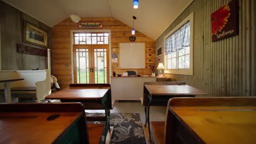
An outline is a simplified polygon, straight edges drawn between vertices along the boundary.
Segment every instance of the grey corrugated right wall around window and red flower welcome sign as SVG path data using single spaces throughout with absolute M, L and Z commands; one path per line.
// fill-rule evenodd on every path
M 156 47 L 164 46 L 165 35 L 194 12 L 194 75 L 166 76 L 185 81 L 210 96 L 256 95 L 255 0 L 239 0 L 239 35 L 214 43 L 211 40 L 211 13 L 229 2 L 195 0 L 156 40 Z

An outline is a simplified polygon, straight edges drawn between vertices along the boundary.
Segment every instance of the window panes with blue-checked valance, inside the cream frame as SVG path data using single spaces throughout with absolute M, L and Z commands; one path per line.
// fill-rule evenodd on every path
M 166 38 L 167 69 L 189 69 L 190 21 Z

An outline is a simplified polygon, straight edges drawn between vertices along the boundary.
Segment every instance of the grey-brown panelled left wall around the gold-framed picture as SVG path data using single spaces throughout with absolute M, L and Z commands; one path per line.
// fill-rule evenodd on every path
M 51 49 L 51 28 L 44 23 L 33 19 L 20 10 L 0 1 L 1 23 L 1 67 L 2 70 L 32 70 L 47 69 L 47 57 L 27 55 L 16 52 L 16 44 L 25 44 L 22 41 L 24 21 L 48 32 L 48 47 Z M 27 46 L 33 46 L 25 44 Z M 40 48 L 38 46 L 33 46 Z M 44 48 L 41 48 L 44 49 Z M 44 49 L 45 50 L 45 49 Z

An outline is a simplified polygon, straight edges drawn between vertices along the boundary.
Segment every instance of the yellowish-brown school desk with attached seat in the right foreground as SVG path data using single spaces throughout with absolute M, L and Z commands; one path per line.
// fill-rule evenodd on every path
M 155 143 L 254 143 L 255 108 L 256 97 L 172 98 L 168 101 L 166 121 L 150 122 L 153 140 Z

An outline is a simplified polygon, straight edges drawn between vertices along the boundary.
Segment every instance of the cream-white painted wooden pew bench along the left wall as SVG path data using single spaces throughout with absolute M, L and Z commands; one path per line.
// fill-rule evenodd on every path
M 22 78 L 24 80 L 11 83 L 11 95 L 17 97 L 36 98 L 39 103 L 51 92 L 50 73 L 45 70 L 0 70 L 1 79 Z M 3 89 L 3 84 L 0 84 Z M 2 90 L 3 91 L 3 90 Z M 2 99 L 2 100 L 1 100 Z M 0 93 L 0 100 L 4 102 L 4 93 Z

